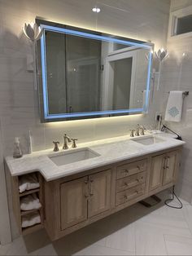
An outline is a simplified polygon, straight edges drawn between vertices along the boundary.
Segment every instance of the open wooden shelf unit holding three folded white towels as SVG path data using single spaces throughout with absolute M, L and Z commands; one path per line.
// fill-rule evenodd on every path
M 11 177 L 13 210 L 18 226 L 20 227 L 20 233 L 23 235 L 42 228 L 44 223 L 43 178 L 38 172 L 33 173 L 33 178 L 35 177 L 37 179 L 39 185 L 34 186 L 33 184 L 32 189 L 28 189 L 30 188 L 30 184 L 29 186 L 23 186 L 21 180 L 24 180 L 26 183 L 29 175 L 30 174 Z M 22 189 L 20 186 L 23 186 Z M 26 225 L 28 225 L 28 227 Z

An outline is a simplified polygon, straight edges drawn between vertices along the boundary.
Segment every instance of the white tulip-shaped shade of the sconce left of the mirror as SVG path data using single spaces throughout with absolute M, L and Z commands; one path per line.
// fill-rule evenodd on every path
M 42 29 L 36 23 L 25 23 L 23 31 L 24 35 L 33 42 L 41 38 Z

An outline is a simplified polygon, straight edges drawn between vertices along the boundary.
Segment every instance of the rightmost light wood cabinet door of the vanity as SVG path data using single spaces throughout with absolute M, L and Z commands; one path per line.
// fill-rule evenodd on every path
M 164 185 L 173 183 L 176 179 L 177 151 L 169 152 L 165 157 Z

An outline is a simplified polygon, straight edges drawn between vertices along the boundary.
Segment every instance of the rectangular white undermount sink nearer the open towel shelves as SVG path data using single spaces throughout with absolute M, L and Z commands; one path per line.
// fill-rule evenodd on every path
M 72 152 L 64 152 L 57 156 L 51 156 L 50 160 L 55 163 L 57 166 L 68 165 L 76 161 L 83 161 L 93 157 L 99 157 L 100 155 L 97 152 L 89 148 L 76 149 Z

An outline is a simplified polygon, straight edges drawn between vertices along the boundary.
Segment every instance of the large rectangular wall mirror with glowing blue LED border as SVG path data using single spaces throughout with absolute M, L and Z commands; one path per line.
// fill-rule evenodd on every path
M 41 120 L 147 111 L 153 44 L 37 20 Z

